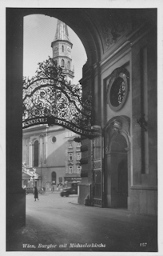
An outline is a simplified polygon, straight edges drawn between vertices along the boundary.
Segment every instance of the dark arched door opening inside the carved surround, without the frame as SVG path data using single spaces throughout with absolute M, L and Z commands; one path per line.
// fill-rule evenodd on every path
M 128 209 L 128 154 L 122 134 L 114 133 L 106 159 L 106 206 Z

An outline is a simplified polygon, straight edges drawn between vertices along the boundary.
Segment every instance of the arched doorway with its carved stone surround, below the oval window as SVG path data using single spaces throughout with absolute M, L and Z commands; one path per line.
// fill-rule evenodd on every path
M 105 129 L 105 206 L 129 209 L 129 118 L 116 117 Z

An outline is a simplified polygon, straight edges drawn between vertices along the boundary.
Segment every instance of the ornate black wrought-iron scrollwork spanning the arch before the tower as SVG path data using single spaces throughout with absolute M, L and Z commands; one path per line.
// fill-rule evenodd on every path
M 91 94 L 85 98 L 81 85 L 67 82 L 53 58 L 38 64 L 36 75 L 23 79 L 22 128 L 59 125 L 92 138 Z

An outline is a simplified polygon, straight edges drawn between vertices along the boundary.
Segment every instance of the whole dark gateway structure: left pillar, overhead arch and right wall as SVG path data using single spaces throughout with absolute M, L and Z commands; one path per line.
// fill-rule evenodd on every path
M 93 139 L 81 136 L 78 202 L 84 204 L 89 196 L 92 206 L 125 208 L 131 213 L 157 216 L 157 10 L 9 9 L 7 35 L 14 38 L 12 44 L 6 41 L 7 63 L 10 63 L 7 66 L 9 225 L 14 219 L 19 220 L 18 216 L 22 216 L 23 225 L 26 218 L 26 198 L 21 187 L 23 30 L 20 24 L 24 15 L 36 13 L 66 22 L 78 34 L 88 57 L 80 82 L 83 94 L 93 96 L 92 126 L 101 135 Z M 14 60 L 18 63 L 16 67 Z

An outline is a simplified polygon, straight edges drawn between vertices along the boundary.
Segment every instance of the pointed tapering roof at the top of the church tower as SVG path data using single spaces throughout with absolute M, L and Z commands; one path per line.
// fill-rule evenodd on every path
M 55 40 L 66 40 L 70 42 L 67 25 L 58 19 L 57 30 L 55 33 Z

